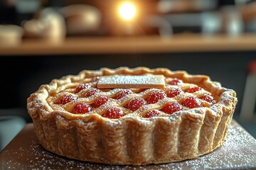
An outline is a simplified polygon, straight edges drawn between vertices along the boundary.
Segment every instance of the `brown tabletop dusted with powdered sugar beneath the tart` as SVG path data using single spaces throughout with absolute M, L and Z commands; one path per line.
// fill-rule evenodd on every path
M 256 140 L 233 120 L 224 146 L 198 159 L 148 166 L 91 164 L 51 154 L 29 123 L 0 153 L 0 169 L 256 169 Z

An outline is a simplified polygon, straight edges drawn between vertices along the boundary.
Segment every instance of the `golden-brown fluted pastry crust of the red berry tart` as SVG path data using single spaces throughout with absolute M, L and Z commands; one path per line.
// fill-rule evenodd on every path
M 87 114 L 70 113 L 77 101 L 71 101 L 63 107 L 54 103 L 58 100 L 58 94 L 73 91 L 72 86 L 78 86 L 86 79 L 116 74 L 161 74 L 166 79 L 181 79 L 185 83 L 206 89 L 204 92 L 216 96 L 218 102 L 208 107 L 206 103 L 205 107 L 185 109 L 171 115 L 160 111 L 159 117 L 143 118 L 146 111 L 160 110 L 164 103 L 183 100 L 186 98 L 184 93 L 176 98 L 164 98 L 134 112 L 121 107 L 125 115 L 117 119 L 102 116 L 107 106 L 124 106 L 131 98 L 145 98 L 152 89 L 131 94 L 118 102 L 113 100 Z M 114 96 L 117 91 L 118 89 L 102 93 Z M 78 95 L 82 93 L 83 91 Z M 93 103 L 102 93 L 79 100 Z M 198 96 L 198 93 L 190 95 Z M 165 68 L 120 67 L 85 70 L 76 76 L 54 79 L 31 94 L 27 100 L 27 108 L 39 142 L 50 152 L 71 159 L 103 164 L 161 164 L 193 159 L 223 145 L 237 103 L 235 96 L 235 91 L 223 88 L 204 75 L 171 72 Z

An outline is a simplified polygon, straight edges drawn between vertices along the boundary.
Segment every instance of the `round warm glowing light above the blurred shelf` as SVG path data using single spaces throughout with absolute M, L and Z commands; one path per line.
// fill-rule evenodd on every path
M 119 14 L 124 20 L 132 20 L 136 14 L 136 7 L 130 2 L 125 2 L 119 7 Z

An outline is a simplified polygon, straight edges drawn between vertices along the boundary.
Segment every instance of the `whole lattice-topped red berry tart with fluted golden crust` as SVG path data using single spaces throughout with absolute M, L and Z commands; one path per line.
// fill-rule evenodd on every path
M 53 79 L 27 100 L 41 145 L 60 156 L 120 165 L 194 159 L 223 145 L 235 91 L 165 68 L 102 68 Z

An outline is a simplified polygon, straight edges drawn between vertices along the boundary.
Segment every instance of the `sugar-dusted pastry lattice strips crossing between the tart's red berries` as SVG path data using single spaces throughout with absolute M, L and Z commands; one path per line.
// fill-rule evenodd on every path
M 173 79 L 167 79 L 166 81 L 171 81 L 171 80 L 173 80 Z M 82 83 L 86 83 L 86 81 L 83 81 Z M 90 86 L 91 86 L 90 88 L 82 89 L 77 94 L 74 94 L 75 93 L 74 87 L 77 87 L 77 86 L 79 86 L 78 83 L 69 84 L 69 86 L 66 86 L 66 85 L 60 86 L 57 89 L 57 91 L 59 91 L 59 93 L 56 96 L 52 96 L 52 97 L 48 98 L 48 102 L 50 103 L 50 106 L 52 106 L 55 109 L 60 109 L 60 106 L 58 105 L 59 98 L 62 96 L 65 96 L 65 95 L 72 95 L 72 96 L 74 96 L 75 100 L 71 101 L 69 103 L 66 103 L 65 105 L 62 106 L 63 108 L 60 109 L 61 111 L 71 112 L 75 103 L 93 104 L 93 103 L 95 103 L 97 98 L 99 98 L 100 96 L 107 96 L 111 100 L 108 101 L 104 107 L 100 107 L 100 108 L 97 108 L 96 110 L 90 111 L 88 114 L 97 113 L 99 115 L 102 115 L 108 107 L 116 106 L 124 112 L 124 115 L 127 115 L 129 113 L 132 113 L 132 111 L 129 111 L 129 109 L 127 109 L 127 108 L 124 108 L 124 106 L 126 106 L 129 103 L 129 101 L 132 100 L 132 98 L 146 99 L 149 96 L 149 94 L 151 94 L 151 92 L 159 90 L 159 89 L 146 89 L 145 91 L 142 91 L 140 93 L 128 94 L 127 96 L 124 96 L 124 98 L 116 100 L 116 99 L 114 99 L 114 97 L 117 96 L 117 94 L 120 91 L 122 91 L 123 89 L 105 89 L 105 91 L 98 92 L 88 98 L 85 98 L 84 96 L 85 96 L 85 94 L 87 94 L 88 91 L 95 89 L 93 87 L 93 86 L 95 86 L 95 84 L 90 84 Z M 164 92 L 166 94 L 169 91 L 171 91 L 171 89 L 174 89 L 174 88 L 180 88 L 183 91 L 181 92 L 181 94 L 174 96 L 174 98 L 171 100 L 166 99 L 166 100 L 164 100 L 164 102 L 160 100 L 159 104 L 156 104 L 155 107 L 148 106 L 148 105 L 143 106 L 143 108 L 139 109 L 139 111 L 136 111 L 135 114 L 139 115 L 139 116 L 143 116 L 146 113 L 146 111 L 158 110 L 157 112 L 159 113 L 159 115 L 167 115 L 163 111 L 159 111 L 159 110 L 161 110 L 161 108 L 163 108 L 166 105 L 166 103 L 174 103 L 174 102 L 182 103 L 182 101 L 184 101 L 184 99 L 188 98 L 189 96 L 198 98 L 199 96 L 203 96 L 204 94 L 210 94 L 210 92 L 205 91 L 204 89 L 201 89 L 200 91 L 195 91 L 194 93 L 185 92 L 186 89 L 189 89 L 191 87 L 197 87 L 197 86 L 195 84 L 188 84 L 188 83 L 177 84 L 177 85 L 168 85 L 168 86 L 166 86 L 166 89 L 164 89 Z M 138 89 L 135 91 L 138 91 Z M 203 103 L 203 106 L 211 105 L 211 103 L 204 101 L 204 100 L 201 100 L 201 102 Z M 57 103 L 57 106 L 55 103 Z M 184 108 L 183 110 L 188 110 L 188 108 Z

